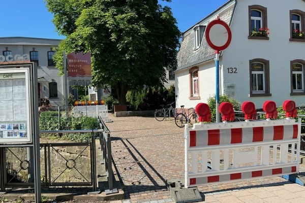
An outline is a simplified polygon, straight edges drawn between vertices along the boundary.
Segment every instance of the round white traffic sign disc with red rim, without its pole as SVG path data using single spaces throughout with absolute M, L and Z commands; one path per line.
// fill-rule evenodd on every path
M 226 22 L 213 20 L 206 26 L 205 38 L 210 48 L 216 51 L 225 50 L 231 43 L 231 29 Z

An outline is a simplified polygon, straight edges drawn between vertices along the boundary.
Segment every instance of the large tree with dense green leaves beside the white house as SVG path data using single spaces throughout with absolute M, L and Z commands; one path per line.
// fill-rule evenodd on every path
M 163 0 L 171 2 L 171 0 Z M 53 59 L 64 74 L 63 52 L 91 52 L 92 83 L 128 90 L 155 86 L 176 64 L 179 31 L 171 9 L 158 0 L 45 0 L 60 35 Z

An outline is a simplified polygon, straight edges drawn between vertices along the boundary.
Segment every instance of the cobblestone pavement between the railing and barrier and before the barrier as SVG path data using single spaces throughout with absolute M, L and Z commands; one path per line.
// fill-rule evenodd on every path
M 116 202 L 174 202 L 166 180 L 184 181 L 184 128 L 174 120 L 153 117 L 114 117 L 112 156 L 122 181 L 124 200 Z M 300 164 L 300 172 L 305 171 Z M 198 187 L 204 202 L 305 202 L 305 187 L 281 177 Z

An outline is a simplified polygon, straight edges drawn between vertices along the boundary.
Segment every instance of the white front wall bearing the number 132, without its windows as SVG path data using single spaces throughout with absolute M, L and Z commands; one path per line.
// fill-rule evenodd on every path
M 290 96 L 290 61 L 304 59 L 305 55 L 302 51 L 304 43 L 289 41 L 289 10 L 305 11 L 305 4 L 303 1 L 283 1 L 275 6 L 274 3 L 264 0 L 238 1 L 231 24 L 232 41 L 221 57 L 222 93 L 229 93 L 241 102 L 253 101 L 256 108 L 262 108 L 265 100 L 273 100 L 277 106 L 282 106 L 286 99 L 294 100 L 297 106 L 304 104 L 304 96 Z M 249 5 L 267 8 L 269 40 L 248 39 Z M 269 60 L 271 96 L 249 96 L 249 60 L 254 58 Z M 228 74 L 228 67 L 236 67 L 237 74 Z

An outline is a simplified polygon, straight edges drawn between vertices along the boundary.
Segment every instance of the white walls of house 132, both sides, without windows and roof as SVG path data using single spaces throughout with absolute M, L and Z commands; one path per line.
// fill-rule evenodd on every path
M 282 106 L 286 99 L 305 104 L 305 96 L 290 96 L 290 61 L 305 60 L 303 42 L 290 42 L 289 10 L 305 11 L 304 1 L 239 0 L 232 19 L 232 41 L 220 57 L 220 94 L 226 94 L 240 101 L 252 101 L 261 109 L 264 101 L 273 100 Z M 275 6 L 276 4 L 276 6 Z M 248 39 L 249 5 L 267 8 L 267 26 L 269 40 Z M 215 14 L 217 15 L 217 14 Z M 203 16 L 204 17 L 204 16 Z M 192 24 L 194 22 L 190 22 Z M 204 39 L 205 40 L 205 39 Z M 269 81 L 271 96 L 250 97 L 249 61 L 254 58 L 269 60 Z M 199 66 L 200 99 L 190 100 L 189 69 Z M 175 72 L 176 106 L 195 107 L 198 103 L 207 103 L 210 96 L 216 94 L 215 61 L 194 64 Z M 237 73 L 228 73 L 228 67 L 236 67 Z M 304 76 L 305 77 L 305 76 Z

